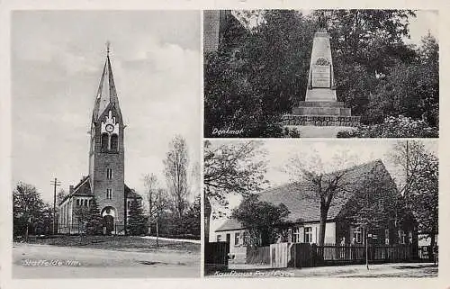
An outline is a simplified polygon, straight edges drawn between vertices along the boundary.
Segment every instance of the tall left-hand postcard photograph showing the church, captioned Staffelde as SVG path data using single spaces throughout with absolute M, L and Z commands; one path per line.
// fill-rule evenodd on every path
M 12 12 L 14 278 L 200 277 L 200 17 Z

